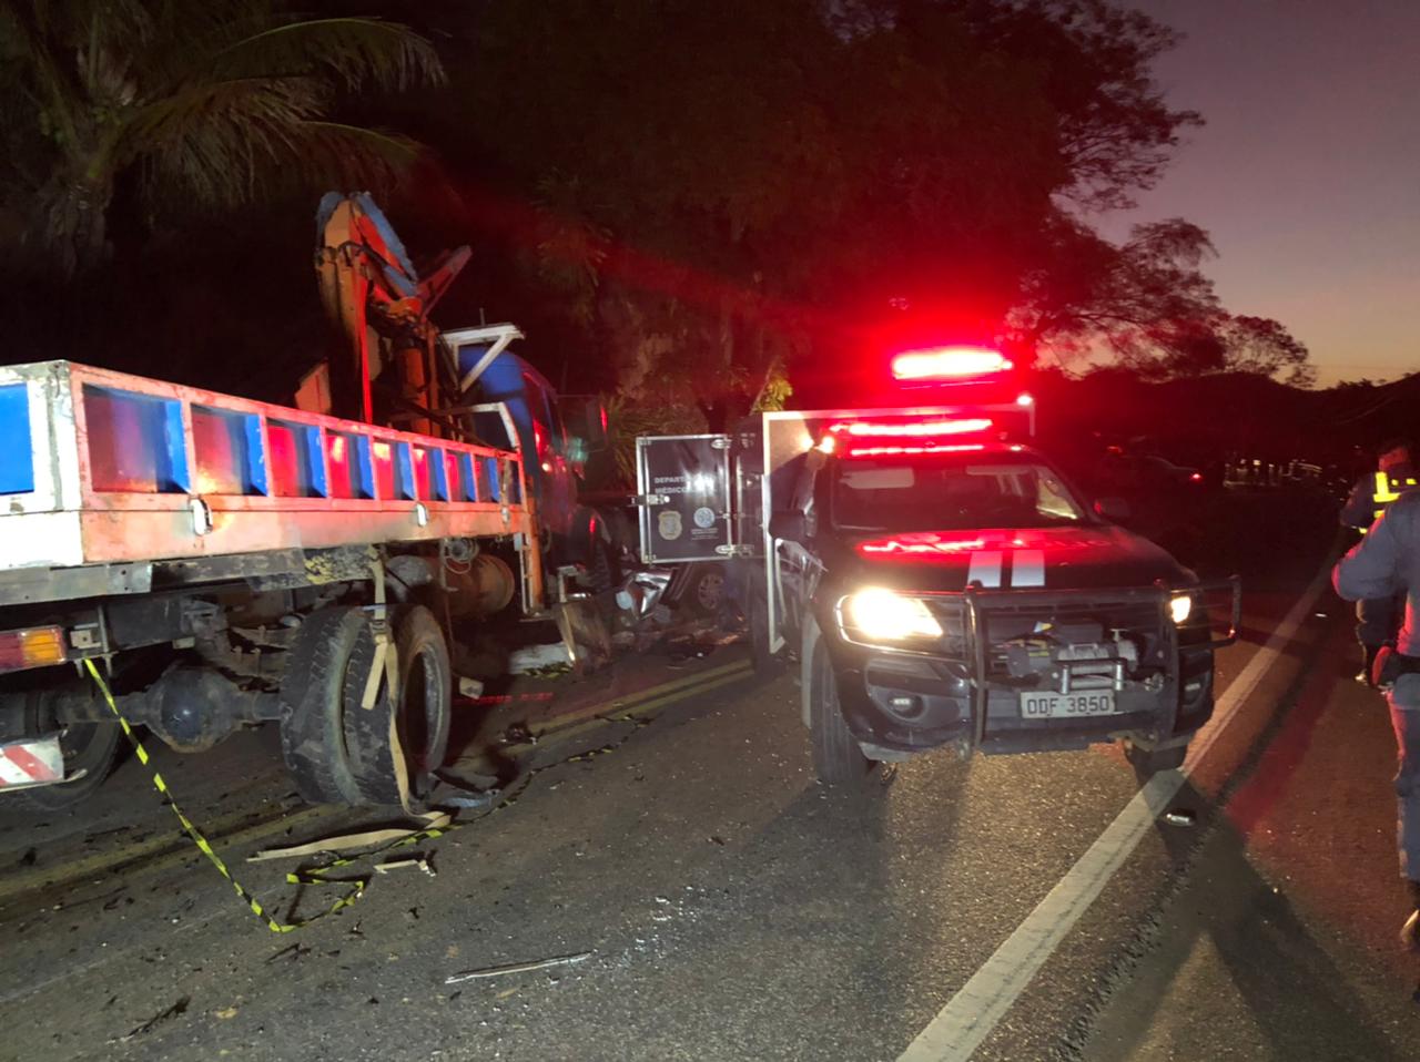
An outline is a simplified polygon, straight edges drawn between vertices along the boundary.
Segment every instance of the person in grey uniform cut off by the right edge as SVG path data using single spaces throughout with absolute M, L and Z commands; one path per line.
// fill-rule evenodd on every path
M 1332 571 L 1332 585 L 1346 601 L 1393 601 L 1404 608 L 1394 650 L 1380 656 L 1380 684 L 1396 731 L 1396 842 L 1400 876 L 1410 887 L 1414 910 L 1400 931 L 1410 950 L 1420 950 L 1420 491 L 1387 503 L 1384 513 Z

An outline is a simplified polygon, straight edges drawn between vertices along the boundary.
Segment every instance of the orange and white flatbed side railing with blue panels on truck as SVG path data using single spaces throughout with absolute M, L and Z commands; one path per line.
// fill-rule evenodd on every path
M 515 451 L 0 366 L 0 572 L 498 535 L 534 535 Z

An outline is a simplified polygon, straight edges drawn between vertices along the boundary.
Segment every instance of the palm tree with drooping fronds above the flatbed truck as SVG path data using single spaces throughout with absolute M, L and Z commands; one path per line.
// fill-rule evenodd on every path
M 119 179 L 151 216 L 388 179 L 416 145 L 334 105 L 442 77 L 405 26 L 280 0 L 0 0 L 0 182 L 23 239 L 72 277 L 106 251 Z

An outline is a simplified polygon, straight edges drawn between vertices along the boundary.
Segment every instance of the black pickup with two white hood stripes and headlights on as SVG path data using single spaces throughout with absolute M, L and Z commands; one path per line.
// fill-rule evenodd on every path
M 940 745 L 1118 740 L 1140 772 L 1183 764 L 1213 713 L 1237 579 L 1200 585 L 1031 447 L 836 442 L 799 460 L 768 547 L 771 612 L 802 669 L 824 781 Z M 1231 625 L 1216 637 L 1224 593 Z

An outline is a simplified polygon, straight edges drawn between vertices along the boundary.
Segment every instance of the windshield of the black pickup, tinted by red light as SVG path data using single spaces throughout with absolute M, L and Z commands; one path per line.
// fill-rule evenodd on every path
M 832 524 L 843 531 L 964 531 L 1089 522 L 1049 466 L 1015 454 L 834 461 Z

